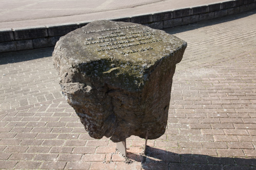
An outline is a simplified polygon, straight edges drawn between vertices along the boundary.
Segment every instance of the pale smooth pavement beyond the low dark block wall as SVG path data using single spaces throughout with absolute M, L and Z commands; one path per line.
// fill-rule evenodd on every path
M 181 9 L 223 0 L 0 0 L 0 29 L 41 26 Z

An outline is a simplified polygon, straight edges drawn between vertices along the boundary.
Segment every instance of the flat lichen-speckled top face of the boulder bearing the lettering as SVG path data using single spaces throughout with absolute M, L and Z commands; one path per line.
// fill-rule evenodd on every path
M 57 47 L 69 64 L 101 59 L 143 63 L 149 67 L 172 55 L 181 45 L 179 38 L 164 31 L 135 23 L 100 20 L 61 37 Z

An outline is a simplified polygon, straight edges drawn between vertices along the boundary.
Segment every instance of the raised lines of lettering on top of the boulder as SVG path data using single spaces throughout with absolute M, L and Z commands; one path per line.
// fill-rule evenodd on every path
M 148 30 L 141 30 L 141 31 L 129 31 L 129 32 L 121 32 L 121 29 L 129 29 L 129 28 L 136 28 L 139 26 L 125 26 L 125 27 L 118 27 L 118 28 L 109 28 L 109 29 L 101 29 L 101 30 L 91 30 L 84 32 L 88 33 L 95 33 L 95 32 L 106 32 L 111 31 L 109 33 L 103 33 L 101 36 L 98 37 L 90 37 L 86 38 L 84 42 L 85 45 L 92 45 L 97 44 L 99 48 L 96 48 L 97 52 L 102 51 L 109 51 L 115 49 L 122 49 L 120 51 L 121 54 L 131 54 L 137 52 L 143 52 L 152 50 L 153 47 L 151 46 L 141 46 L 143 44 L 150 44 L 161 41 L 154 37 L 156 34 L 155 32 L 150 32 Z M 105 35 L 104 35 L 105 34 Z M 131 46 L 138 46 L 136 49 L 130 49 Z

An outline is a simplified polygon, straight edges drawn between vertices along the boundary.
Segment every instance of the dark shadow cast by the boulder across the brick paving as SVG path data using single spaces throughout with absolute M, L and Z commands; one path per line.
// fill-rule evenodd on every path
M 147 146 L 146 156 L 128 153 L 131 160 L 142 162 L 143 169 L 253 169 L 256 159 L 177 154 Z

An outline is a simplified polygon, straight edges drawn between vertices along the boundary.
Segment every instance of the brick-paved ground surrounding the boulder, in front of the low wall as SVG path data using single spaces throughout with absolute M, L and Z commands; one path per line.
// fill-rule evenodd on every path
M 256 11 L 165 30 L 188 42 L 165 134 L 128 158 L 84 131 L 61 96 L 52 48 L 0 54 L 0 168 L 256 169 Z M 129 162 L 130 163 L 125 163 Z

